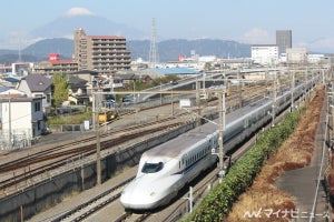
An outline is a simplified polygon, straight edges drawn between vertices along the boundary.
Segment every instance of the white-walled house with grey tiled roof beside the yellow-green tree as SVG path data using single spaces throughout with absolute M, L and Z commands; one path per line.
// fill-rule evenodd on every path
M 28 74 L 23 77 L 17 89 L 26 92 L 28 98 L 42 98 L 42 108 L 51 107 L 51 85 L 50 78 L 42 74 Z

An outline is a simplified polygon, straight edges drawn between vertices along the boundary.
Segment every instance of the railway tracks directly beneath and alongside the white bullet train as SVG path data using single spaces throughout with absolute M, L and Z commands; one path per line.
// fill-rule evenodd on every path
M 240 149 L 232 154 L 232 160 L 236 162 L 240 157 L 243 157 L 255 143 L 256 137 L 247 141 Z M 212 188 L 219 182 L 217 178 L 218 169 L 213 168 L 207 170 L 204 174 L 198 176 L 193 183 L 190 183 L 193 189 L 193 205 L 196 205 L 205 198 L 208 192 L 210 192 Z M 131 176 L 134 179 L 135 176 Z M 130 179 L 130 180 L 131 180 Z M 125 181 L 121 183 L 126 185 L 130 180 Z M 159 209 L 158 211 L 153 212 L 121 212 L 118 215 L 110 215 L 112 221 L 115 222 L 141 222 L 141 221 L 177 221 L 181 219 L 185 214 L 189 212 L 189 201 L 188 201 L 188 192 L 185 188 L 180 195 L 177 196 L 171 204 Z M 118 188 L 112 188 L 110 190 L 118 190 Z M 104 196 L 106 195 L 106 196 Z M 75 209 L 68 211 L 67 213 L 58 216 L 57 219 L 52 220 L 53 222 L 59 221 L 91 221 L 89 218 L 90 215 L 98 213 L 104 206 L 108 204 L 120 204 L 119 198 L 120 192 L 117 195 L 112 195 L 112 200 L 107 198 L 109 195 L 109 191 L 99 194 L 97 198 L 76 206 Z M 101 199 L 100 201 L 96 199 Z M 104 201 L 106 200 L 106 201 Z M 96 203 L 91 203 L 96 202 Z M 117 202 L 117 203 L 116 203 Z M 81 206 L 85 208 L 81 208 Z M 95 206 L 97 205 L 97 206 Z M 114 205 L 115 206 L 115 205 Z M 81 213 L 77 213 L 76 210 L 80 209 Z M 66 216 L 67 218 L 66 218 Z M 94 220 L 94 219 L 92 219 Z

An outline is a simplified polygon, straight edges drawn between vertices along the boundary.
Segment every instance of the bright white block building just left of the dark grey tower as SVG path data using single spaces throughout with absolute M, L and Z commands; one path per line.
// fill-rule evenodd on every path
M 252 47 L 254 63 L 271 65 L 278 63 L 278 47 L 276 44 L 254 44 Z

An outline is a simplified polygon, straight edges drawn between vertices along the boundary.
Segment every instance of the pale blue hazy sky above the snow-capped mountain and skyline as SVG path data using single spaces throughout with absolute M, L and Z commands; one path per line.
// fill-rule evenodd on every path
M 164 39 L 265 44 L 275 43 L 276 30 L 289 29 L 293 47 L 334 52 L 333 0 L 8 0 L 1 4 L 0 49 L 23 48 L 7 41 L 24 39 L 24 33 L 69 11 L 94 13 L 147 33 L 155 18 L 157 36 Z

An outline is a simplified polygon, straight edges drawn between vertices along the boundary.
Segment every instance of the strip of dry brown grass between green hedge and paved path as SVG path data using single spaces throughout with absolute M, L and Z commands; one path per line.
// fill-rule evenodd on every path
M 323 101 L 324 89 L 321 88 L 311 99 L 295 132 L 279 148 L 278 152 L 269 158 L 268 163 L 262 169 L 248 191 L 240 195 L 239 201 L 234 204 L 227 216 L 227 221 L 289 221 L 282 211 L 295 210 L 295 198 L 284 193 L 273 183 L 285 171 L 310 164 Z M 273 214 L 268 209 L 273 209 L 273 212 L 281 212 Z M 261 211 L 262 218 L 248 219 L 245 216 L 246 211 Z M 271 218 L 268 218 L 269 214 Z

